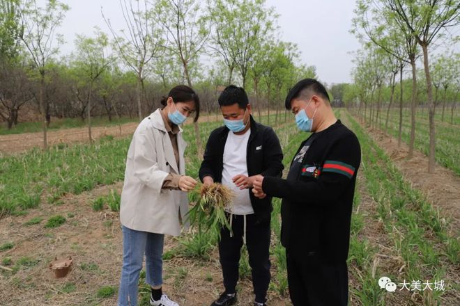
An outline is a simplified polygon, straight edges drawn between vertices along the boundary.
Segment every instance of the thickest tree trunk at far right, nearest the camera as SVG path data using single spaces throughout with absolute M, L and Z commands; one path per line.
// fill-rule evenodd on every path
M 423 65 L 425 69 L 425 77 L 427 78 L 427 96 L 429 107 L 429 156 L 428 156 L 428 172 L 434 173 L 435 154 L 436 154 L 436 131 L 434 127 L 434 102 L 433 102 L 433 89 L 431 88 L 431 75 L 429 73 L 428 64 L 428 47 L 422 46 L 423 51 Z

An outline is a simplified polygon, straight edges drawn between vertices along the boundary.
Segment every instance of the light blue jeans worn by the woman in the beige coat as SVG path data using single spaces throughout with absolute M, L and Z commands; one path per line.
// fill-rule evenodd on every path
M 163 234 L 139 232 L 122 226 L 123 267 L 121 268 L 118 306 L 137 306 L 137 287 L 146 255 L 146 283 L 158 287 L 163 283 Z

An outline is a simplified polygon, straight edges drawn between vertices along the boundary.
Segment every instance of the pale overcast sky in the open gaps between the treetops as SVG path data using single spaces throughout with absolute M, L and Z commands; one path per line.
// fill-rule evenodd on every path
M 75 49 L 76 34 L 91 36 L 94 26 L 109 33 L 102 19 L 101 7 L 115 28 L 124 26 L 116 0 L 64 2 L 68 3 L 70 10 L 58 30 L 66 40 L 61 47 L 63 54 L 70 54 Z M 348 33 L 354 0 L 267 0 L 266 5 L 273 6 L 279 14 L 280 39 L 296 43 L 302 51 L 302 63 L 316 66 L 320 79 L 327 83 L 351 82 L 351 52 L 360 48 L 358 40 Z

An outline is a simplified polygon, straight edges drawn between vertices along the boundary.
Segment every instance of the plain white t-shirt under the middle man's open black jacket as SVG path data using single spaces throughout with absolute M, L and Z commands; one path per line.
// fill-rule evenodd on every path
M 229 131 L 227 136 L 227 142 L 224 147 L 224 169 L 222 170 L 222 185 L 230 188 L 235 197 L 233 198 L 233 205 L 231 211 L 227 211 L 236 215 L 249 215 L 254 214 L 252 209 L 250 190 L 240 190 L 233 181 L 232 178 L 236 175 L 247 176 L 247 141 L 249 140 L 251 129 L 248 129 L 243 135 L 233 134 Z

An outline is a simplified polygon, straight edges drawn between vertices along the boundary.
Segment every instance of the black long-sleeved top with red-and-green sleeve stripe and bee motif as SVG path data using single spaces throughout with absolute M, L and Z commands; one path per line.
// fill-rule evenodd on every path
M 343 262 L 348 257 L 360 144 L 340 120 L 310 137 L 314 140 L 297 177 L 265 177 L 262 188 L 283 199 L 281 240 L 288 252 Z

